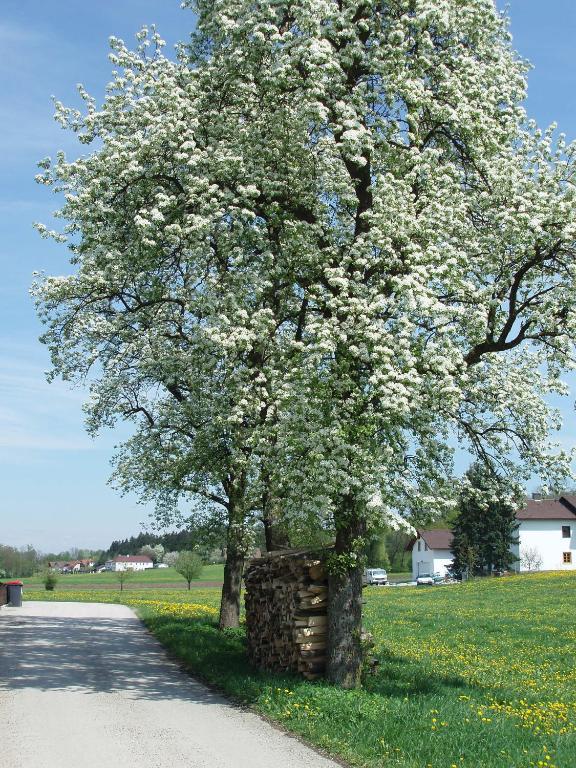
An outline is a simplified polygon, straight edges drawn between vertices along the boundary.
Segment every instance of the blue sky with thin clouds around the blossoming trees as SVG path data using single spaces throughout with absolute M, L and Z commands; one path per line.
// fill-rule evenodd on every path
M 503 4 L 502 4 L 503 5 Z M 515 47 L 534 65 L 528 110 L 576 138 L 576 4 L 512 0 Z M 56 201 L 34 183 L 36 162 L 77 152 L 52 120 L 51 96 L 74 104 L 76 83 L 96 97 L 109 79 L 108 38 L 127 42 L 143 24 L 171 46 L 193 16 L 178 0 L 2 0 L 0 10 L 0 542 L 43 551 L 107 547 L 140 529 L 147 510 L 106 485 L 118 433 L 93 441 L 83 430 L 83 393 L 47 384 L 28 288 L 32 272 L 68 271 L 65 248 L 41 240 Z M 565 410 L 571 441 L 573 410 Z

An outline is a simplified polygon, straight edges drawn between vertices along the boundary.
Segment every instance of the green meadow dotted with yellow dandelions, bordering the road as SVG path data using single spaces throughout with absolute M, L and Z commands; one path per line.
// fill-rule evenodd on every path
M 576 765 L 576 573 L 365 594 L 380 666 L 360 691 L 252 669 L 242 628 L 214 625 L 217 589 L 60 599 L 133 605 L 190 671 L 352 765 Z

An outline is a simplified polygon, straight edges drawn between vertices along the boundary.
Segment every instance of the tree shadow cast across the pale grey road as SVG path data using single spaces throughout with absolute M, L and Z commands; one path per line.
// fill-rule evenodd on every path
M 139 619 L 0 616 L 0 690 L 122 692 L 221 702 L 168 661 Z

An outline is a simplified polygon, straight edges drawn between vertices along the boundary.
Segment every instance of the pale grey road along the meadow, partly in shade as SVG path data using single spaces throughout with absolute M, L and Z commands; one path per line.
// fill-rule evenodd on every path
M 337 768 L 182 672 L 127 607 L 0 610 L 0 768 Z

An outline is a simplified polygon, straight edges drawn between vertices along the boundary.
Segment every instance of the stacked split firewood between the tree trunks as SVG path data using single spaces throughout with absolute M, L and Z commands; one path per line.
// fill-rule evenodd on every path
M 270 552 L 250 562 L 246 583 L 248 654 L 264 669 L 322 677 L 328 582 L 317 554 Z

